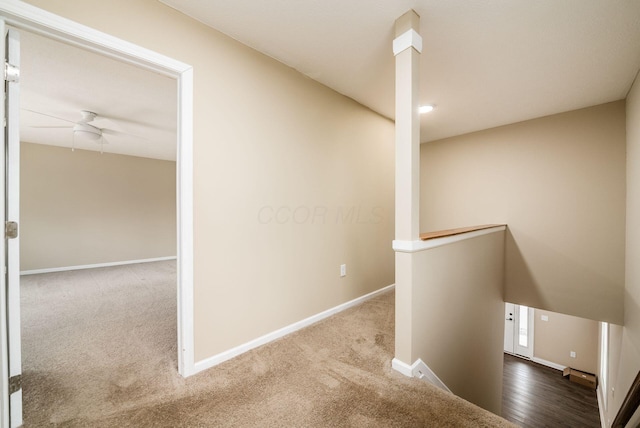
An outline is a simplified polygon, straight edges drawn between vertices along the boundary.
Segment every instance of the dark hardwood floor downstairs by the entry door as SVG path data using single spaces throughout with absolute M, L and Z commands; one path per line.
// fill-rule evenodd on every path
M 562 372 L 504 355 L 502 417 L 522 427 L 600 428 L 596 391 Z

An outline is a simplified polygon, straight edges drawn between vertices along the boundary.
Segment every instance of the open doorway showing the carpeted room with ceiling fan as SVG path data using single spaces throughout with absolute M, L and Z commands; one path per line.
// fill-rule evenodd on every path
M 23 415 L 43 425 L 99 414 L 133 373 L 177 376 L 176 84 L 26 31 L 20 48 Z

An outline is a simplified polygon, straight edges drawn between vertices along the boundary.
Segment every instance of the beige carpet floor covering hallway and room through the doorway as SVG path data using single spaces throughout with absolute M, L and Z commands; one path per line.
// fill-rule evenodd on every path
M 182 379 L 174 262 L 21 288 L 27 427 L 513 426 L 391 369 L 393 292 Z

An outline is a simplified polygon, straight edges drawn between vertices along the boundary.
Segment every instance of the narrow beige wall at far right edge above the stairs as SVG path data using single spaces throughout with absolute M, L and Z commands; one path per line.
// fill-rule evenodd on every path
M 613 421 L 640 370 L 640 80 L 627 97 L 627 241 L 624 327 L 611 326 L 607 418 Z M 628 426 L 640 425 L 640 410 Z

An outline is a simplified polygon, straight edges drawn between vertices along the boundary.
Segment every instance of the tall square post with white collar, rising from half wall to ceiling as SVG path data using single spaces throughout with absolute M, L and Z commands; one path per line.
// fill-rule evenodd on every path
M 415 11 L 396 20 L 396 206 L 395 239 L 405 243 L 420 236 L 419 74 L 422 38 Z M 410 245 L 410 244 L 409 244 Z M 413 253 L 396 251 L 396 344 L 394 367 L 412 364 Z M 407 374 L 407 373 L 405 373 Z

